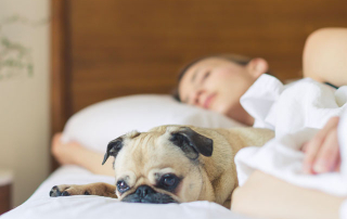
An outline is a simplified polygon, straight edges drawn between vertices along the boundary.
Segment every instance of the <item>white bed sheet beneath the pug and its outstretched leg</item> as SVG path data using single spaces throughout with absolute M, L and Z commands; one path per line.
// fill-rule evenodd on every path
M 49 192 L 57 184 L 114 183 L 113 177 L 93 175 L 77 166 L 63 166 L 55 170 L 28 198 L 15 209 L 0 216 L 1 219 L 247 219 L 210 202 L 183 204 L 133 204 L 95 195 L 50 197 Z

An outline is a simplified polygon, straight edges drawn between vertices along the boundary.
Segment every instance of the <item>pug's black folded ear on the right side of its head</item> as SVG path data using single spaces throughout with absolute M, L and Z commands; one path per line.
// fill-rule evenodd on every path
M 193 131 L 191 128 L 184 127 L 171 132 L 170 141 L 179 146 L 191 159 L 196 159 L 198 154 L 204 156 L 213 155 L 214 141 Z

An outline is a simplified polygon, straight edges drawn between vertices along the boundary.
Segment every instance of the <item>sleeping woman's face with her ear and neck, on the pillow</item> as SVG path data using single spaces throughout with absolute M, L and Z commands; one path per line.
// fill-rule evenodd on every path
M 179 83 L 179 95 L 183 103 L 253 125 L 254 120 L 241 106 L 240 98 L 265 72 L 267 63 L 262 59 L 252 60 L 246 66 L 242 66 L 226 59 L 208 57 L 185 72 Z

